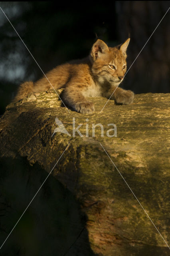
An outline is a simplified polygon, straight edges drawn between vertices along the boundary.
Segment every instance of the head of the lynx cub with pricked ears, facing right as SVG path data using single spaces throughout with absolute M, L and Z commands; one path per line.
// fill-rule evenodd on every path
M 95 80 L 100 84 L 118 86 L 127 71 L 126 50 L 129 44 L 128 38 L 123 44 L 108 47 L 105 42 L 98 39 L 91 49 L 92 72 Z

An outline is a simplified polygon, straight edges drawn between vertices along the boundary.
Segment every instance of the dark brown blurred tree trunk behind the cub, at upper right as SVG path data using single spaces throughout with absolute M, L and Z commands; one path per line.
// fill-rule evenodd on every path
M 168 10 L 168 1 L 117 1 L 120 42 L 130 36 L 128 67 Z M 134 92 L 169 92 L 170 13 L 166 14 L 127 74 Z M 148 89 L 149 88 L 149 89 Z

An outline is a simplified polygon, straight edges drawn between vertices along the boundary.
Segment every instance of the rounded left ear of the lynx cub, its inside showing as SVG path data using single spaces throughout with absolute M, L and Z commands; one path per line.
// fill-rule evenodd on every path
M 93 44 L 93 47 L 91 49 L 91 56 L 93 60 L 96 60 L 99 56 L 101 56 L 102 53 L 109 52 L 109 48 L 105 42 L 103 42 L 100 39 L 97 39 L 95 44 Z

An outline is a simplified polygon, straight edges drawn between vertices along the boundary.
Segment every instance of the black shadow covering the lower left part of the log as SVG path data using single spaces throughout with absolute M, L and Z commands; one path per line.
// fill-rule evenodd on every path
M 37 163 L 30 166 L 25 157 L 4 157 L 0 167 L 2 243 L 42 185 L 47 172 Z M 85 218 L 75 196 L 49 176 L 2 247 L 0 255 L 93 256 Z

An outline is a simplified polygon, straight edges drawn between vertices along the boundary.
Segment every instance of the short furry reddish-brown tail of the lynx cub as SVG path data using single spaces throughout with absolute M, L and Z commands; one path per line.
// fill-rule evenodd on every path
M 33 82 L 24 82 L 18 88 L 18 92 L 13 100 L 13 102 L 17 102 L 28 96 L 29 93 L 33 92 L 34 83 Z

